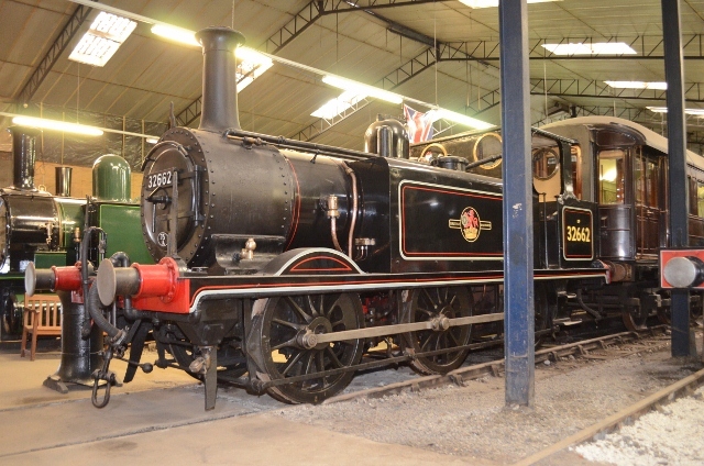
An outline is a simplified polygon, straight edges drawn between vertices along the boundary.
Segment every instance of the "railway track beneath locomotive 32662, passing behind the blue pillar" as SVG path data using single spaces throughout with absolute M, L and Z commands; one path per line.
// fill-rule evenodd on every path
M 546 360 L 557 362 L 560 358 L 573 356 L 588 356 L 594 350 L 605 350 L 610 344 L 626 344 L 641 340 L 646 336 L 664 334 L 667 325 L 652 326 L 644 331 L 620 332 L 604 335 L 580 342 L 547 347 L 536 351 L 536 364 L 543 364 Z M 497 344 L 501 344 L 497 342 Z M 437 388 L 446 385 L 464 385 L 466 380 L 479 379 L 485 376 L 501 376 L 504 373 L 504 359 L 498 358 L 486 363 L 464 366 L 452 370 L 446 375 L 414 377 L 408 380 L 356 390 L 331 397 L 322 404 L 339 403 L 343 401 L 359 400 L 364 398 L 382 398 L 391 395 L 398 395 L 407 390 L 418 391 L 427 388 Z

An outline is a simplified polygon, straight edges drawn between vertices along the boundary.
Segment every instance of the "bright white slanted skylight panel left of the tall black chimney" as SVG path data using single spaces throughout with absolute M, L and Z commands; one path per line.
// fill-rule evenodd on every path
M 100 12 L 80 38 L 68 59 L 92 66 L 105 66 L 136 27 L 127 18 Z

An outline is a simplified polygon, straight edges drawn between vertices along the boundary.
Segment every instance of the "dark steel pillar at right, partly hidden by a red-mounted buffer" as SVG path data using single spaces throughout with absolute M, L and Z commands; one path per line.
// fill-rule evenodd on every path
M 668 154 L 670 191 L 670 247 L 689 245 L 689 199 L 686 196 L 686 134 L 680 0 L 662 0 L 664 76 L 668 81 Z M 672 356 L 690 354 L 690 292 L 672 290 Z

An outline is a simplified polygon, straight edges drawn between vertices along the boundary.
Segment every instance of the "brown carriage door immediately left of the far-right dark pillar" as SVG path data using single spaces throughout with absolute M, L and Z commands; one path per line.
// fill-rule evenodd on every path
M 636 200 L 636 256 L 656 256 L 660 245 L 662 207 L 658 196 L 660 169 L 658 159 L 634 147 L 634 182 Z

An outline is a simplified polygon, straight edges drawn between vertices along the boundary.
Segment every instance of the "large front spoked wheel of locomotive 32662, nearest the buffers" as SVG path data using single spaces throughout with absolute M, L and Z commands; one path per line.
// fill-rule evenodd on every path
M 263 304 L 263 306 L 261 306 Z M 263 380 L 277 380 L 356 365 L 364 340 L 319 343 L 311 346 L 304 335 L 361 329 L 362 301 L 353 293 L 270 298 L 255 307 L 249 352 Z M 321 375 L 293 384 L 270 387 L 266 392 L 287 403 L 319 403 L 342 391 L 353 371 Z

